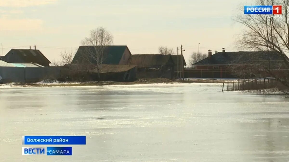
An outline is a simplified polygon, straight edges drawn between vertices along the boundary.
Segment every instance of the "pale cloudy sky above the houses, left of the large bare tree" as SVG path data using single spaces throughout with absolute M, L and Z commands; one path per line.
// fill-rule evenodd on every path
M 3 55 L 36 45 L 58 61 L 60 52 L 77 50 L 90 30 L 104 27 L 114 45 L 127 45 L 132 54 L 157 54 L 159 46 L 176 53 L 183 45 L 188 61 L 193 51 L 237 51 L 242 26 L 233 17 L 252 1 L 1 0 L 0 43 Z

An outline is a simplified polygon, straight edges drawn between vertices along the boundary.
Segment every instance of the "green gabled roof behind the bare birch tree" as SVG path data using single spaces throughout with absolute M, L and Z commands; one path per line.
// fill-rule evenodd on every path
M 106 46 L 104 52 L 105 59 L 103 61 L 103 64 L 117 65 L 122 59 L 125 49 L 128 49 L 127 46 Z M 86 51 L 95 51 L 95 48 L 93 46 L 79 46 L 72 60 L 72 63 L 77 63 L 77 61 L 81 61 L 81 55 L 85 54 Z M 91 58 L 90 62 L 94 63 L 95 61 Z

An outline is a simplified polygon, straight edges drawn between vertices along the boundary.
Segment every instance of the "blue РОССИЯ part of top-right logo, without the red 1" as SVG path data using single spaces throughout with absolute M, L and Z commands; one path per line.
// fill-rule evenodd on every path
M 273 6 L 244 6 L 244 14 L 273 14 Z

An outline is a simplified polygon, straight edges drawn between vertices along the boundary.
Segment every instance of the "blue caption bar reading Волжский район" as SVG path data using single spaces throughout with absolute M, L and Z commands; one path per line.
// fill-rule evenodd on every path
M 24 145 L 85 145 L 86 136 L 22 136 Z

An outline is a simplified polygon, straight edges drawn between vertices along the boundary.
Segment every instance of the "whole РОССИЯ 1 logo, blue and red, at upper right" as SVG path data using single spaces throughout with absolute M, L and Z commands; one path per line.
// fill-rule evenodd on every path
M 244 14 L 282 14 L 282 6 L 244 6 Z

